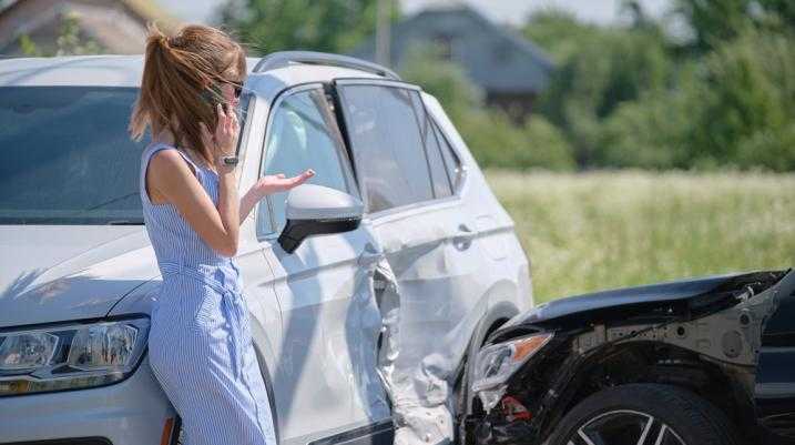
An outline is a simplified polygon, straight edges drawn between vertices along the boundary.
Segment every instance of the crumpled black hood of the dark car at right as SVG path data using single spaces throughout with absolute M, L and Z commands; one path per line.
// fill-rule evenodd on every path
M 574 295 L 538 305 L 517 315 L 504 327 L 665 315 L 673 306 L 693 316 L 701 316 L 731 305 L 736 293 L 746 286 L 761 292 L 781 280 L 785 273 L 733 273 Z

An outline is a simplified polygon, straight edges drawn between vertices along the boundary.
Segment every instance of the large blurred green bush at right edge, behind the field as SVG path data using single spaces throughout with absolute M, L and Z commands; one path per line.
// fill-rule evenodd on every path
M 599 165 L 795 170 L 795 50 L 791 38 L 746 31 L 674 87 L 621 104 L 604 120 Z

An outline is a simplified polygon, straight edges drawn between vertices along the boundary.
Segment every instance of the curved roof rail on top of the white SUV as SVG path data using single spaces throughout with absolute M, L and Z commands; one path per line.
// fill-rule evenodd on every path
M 317 51 L 278 51 L 262 58 L 254 67 L 253 72 L 265 72 L 284 68 L 291 63 L 325 64 L 339 68 L 350 68 L 371 72 L 393 80 L 400 80 L 395 71 L 366 60 L 351 58 L 349 55 L 332 54 Z

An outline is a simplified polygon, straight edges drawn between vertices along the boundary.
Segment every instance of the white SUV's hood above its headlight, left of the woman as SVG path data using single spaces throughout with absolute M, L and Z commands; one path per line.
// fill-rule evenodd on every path
M 93 318 L 159 275 L 143 226 L 0 226 L 0 327 Z

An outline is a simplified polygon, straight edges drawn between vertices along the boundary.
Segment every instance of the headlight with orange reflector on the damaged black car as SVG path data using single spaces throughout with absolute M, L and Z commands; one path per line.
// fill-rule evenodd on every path
M 480 392 L 504 383 L 530 357 L 541 350 L 552 333 L 534 334 L 496 344 L 478 353 L 472 391 Z

